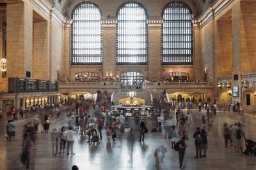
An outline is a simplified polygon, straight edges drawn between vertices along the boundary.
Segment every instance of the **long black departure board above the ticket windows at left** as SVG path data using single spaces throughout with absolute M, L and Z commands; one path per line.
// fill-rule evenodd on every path
M 8 79 L 8 92 L 58 92 L 57 81 L 42 81 L 22 78 Z

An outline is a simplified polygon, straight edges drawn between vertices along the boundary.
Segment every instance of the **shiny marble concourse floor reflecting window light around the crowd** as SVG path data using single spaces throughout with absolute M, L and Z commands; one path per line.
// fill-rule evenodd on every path
M 224 139 L 222 135 L 223 123 L 233 124 L 241 122 L 246 138 L 256 141 L 256 117 L 252 115 L 237 115 L 237 113 L 218 112 L 214 117 L 214 124 L 208 129 L 208 150 L 207 158 L 195 159 L 195 145 L 192 138 L 195 127 L 200 125 L 200 118 L 205 112 L 196 110 L 189 111 L 193 115 L 193 124 L 188 129 L 189 141 L 188 148 L 184 157 L 185 169 L 256 169 L 256 157 L 244 156 L 241 153 L 235 153 L 234 148 L 224 148 Z M 50 130 L 60 128 L 65 123 L 67 114 L 62 114 L 60 118 L 52 118 Z M 6 119 L 6 118 L 4 118 Z M 0 169 L 20 169 L 20 152 L 22 145 L 23 124 L 31 121 L 32 118 L 17 120 L 15 141 L 6 142 L 4 138 L 6 120 L 1 120 L 0 135 Z M 164 139 L 164 134 L 159 132 L 148 132 L 145 135 L 145 142 L 138 142 L 139 134 L 137 132 L 125 132 L 118 136 L 116 143 L 112 143 L 111 150 L 106 149 L 106 133 L 102 139 L 99 148 L 88 146 L 86 141 L 88 137 L 81 137 L 75 134 L 74 152 L 76 155 L 61 155 L 52 157 L 50 134 L 36 134 L 36 148 L 31 152 L 30 169 L 71 169 L 76 164 L 79 169 L 90 170 L 113 170 L 113 169 L 179 169 L 179 153 L 172 150 L 169 139 Z M 163 146 L 161 146 L 163 145 Z M 157 164 L 154 152 L 161 146 L 166 148 L 163 162 Z M 158 154 L 161 159 L 162 153 Z

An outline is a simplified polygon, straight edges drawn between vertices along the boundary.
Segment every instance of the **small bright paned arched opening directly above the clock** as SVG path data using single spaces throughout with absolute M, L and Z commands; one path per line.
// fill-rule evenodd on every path
M 123 87 L 141 87 L 143 83 L 143 73 L 125 72 L 121 73 L 121 84 Z

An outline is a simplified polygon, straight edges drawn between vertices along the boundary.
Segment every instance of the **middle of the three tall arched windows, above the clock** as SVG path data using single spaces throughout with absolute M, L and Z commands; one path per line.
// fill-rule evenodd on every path
M 147 64 L 147 13 L 143 6 L 129 1 L 117 14 L 116 64 Z

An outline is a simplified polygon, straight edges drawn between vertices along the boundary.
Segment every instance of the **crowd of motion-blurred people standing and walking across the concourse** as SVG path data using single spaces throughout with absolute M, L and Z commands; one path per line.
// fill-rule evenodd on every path
M 154 110 L 152 113 L 152 131 L 164 132 L 164 138 L 170 140 L 171 148 L 179 152 L 179 164 L 180 167 L 185 167 L 183 164 L 184 154 L 188 145 L 188 129 L 193 122 L 193 114 L 189 110 L 196 108 L 194 103 L 188 101 L 188 110 L 179 109 L 177 104 L 177 110 L 175 103 L 170 106 L 170 110 Z M 211 133 L 211 125 L 216 116 L 217 104 L 214 103 L 204 105 L 201 101 L 198 102 L 198 111 L 202 111 L 204 106 L 205 112 L 202 114 L 202 120 L 200 120 L 200 127 L 196 127 L 196 131 L 193 134 L 195 139 L 195 158 L 207 157 L 207 133 Z M 23 115 L 20 112 L 20 118 Z M 65 123 L 59 128 L 53 128 L 50 132 L 52 143 L 52 156 L 63 156 L 67 151 L 67 156 L 75 155 L 74 153 L 74 134 L 77 132 L 80 136 L 88 136 L 90 145 L 94 143 L 95 136 L 98 136 L 99 140 L 106 134 L 106 148 L 111 149 L 111 140 L 116 143 L 117 136 L 124 133 L 125 127 L 127 127 L 127 117 L 119 112 L 115 115 L 111 115 L 106 110 L 105 104 L 95 105 L 85 104 L 83 102 L 70 101 L 66 104 L 47 104 L 46 106 L 32 106 L 31 111 L 35 113 L 35 120 L 24 125 L 23 142 L 22 142 L 22 155 L 21 162 L 26 168 L 29 167 L 29 154 L 31 150 L 36 150 L 36 132 L 40 131 L 45 134 L 49 133 L 49 127 L 51 125 L 51 117 L 56 115 L 58 118 L 63 113 L 68 113 L 65 118 Z M 15 117 L 13 117 L 15 120 Z M 15 121 L 8 120 L 6 124 L 6 140 L 13 141 L 15 139 Z M 140 120 L 140 115 L 134 115 L 135 129 L 130 128 L 130 132 L 137 131 L 138 141 L 144 142 L 145 134 L 148 129 L 145 122 Z M 129 125 L 128 125 L 129 127 Z M 225 148 L 234 147 L 236 152 L 243 153 L 243 139 L 245 139 L 242 125 L 237 122 L 233 125 L 225 123 L 223 125 L 223 137 L 225 141 Z M 98 135 L 99 134 L 99 135 Z M 96 141 L 97 142 L 97 141 Z M 202 153 L 203 152 L 203 153 Z

